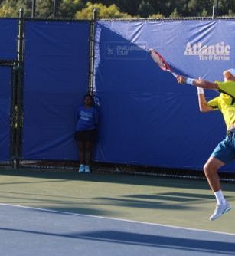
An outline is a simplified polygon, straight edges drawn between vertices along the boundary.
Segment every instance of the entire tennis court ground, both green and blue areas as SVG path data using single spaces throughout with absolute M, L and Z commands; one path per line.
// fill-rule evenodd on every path
M 28 170 L 0 179 L 2 255 L 235 255 L 234 209 L 209 222 L 205 181 Z M 223 185 L 234 205 L 234 184 Z

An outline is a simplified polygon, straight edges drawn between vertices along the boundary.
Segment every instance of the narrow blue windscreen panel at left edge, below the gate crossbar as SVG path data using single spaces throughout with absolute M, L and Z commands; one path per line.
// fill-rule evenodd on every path
M 0 66 L 0 161 L 10 160 L 11 67 Z

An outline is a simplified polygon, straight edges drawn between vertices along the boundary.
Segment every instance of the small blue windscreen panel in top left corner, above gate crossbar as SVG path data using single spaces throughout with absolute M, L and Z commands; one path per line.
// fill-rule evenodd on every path
M 0 18 L 0 60 L 14 61 L 17 57 L 18 19 Z

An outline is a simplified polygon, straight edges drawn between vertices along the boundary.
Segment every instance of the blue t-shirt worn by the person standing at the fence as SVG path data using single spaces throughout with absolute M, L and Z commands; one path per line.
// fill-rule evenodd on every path
M 99 114 L 94 107 L 79 107 L 76 114 L 76 130 L 92 130 L 96 128 Z

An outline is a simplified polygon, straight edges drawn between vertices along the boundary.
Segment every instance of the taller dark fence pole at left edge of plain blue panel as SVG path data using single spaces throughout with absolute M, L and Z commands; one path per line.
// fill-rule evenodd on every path
M 22 133 L 22 77 L 24 61 L 24 9 L 19 11 L 18 23 L 18 53 L 17 53 L 17 90 L 16 90 L 16 138 L 15 138 L 15 163 L 14 169 L 19 167 L 21 159 L 21 133 Z

